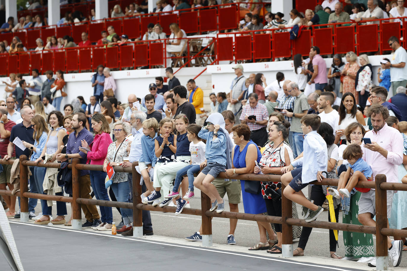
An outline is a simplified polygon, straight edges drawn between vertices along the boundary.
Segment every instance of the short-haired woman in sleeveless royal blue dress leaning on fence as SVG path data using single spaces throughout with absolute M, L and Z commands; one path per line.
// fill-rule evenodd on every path
M 226 175 L 232 176 L 233 174 L 254 173 L 254 161 L 260 161 L 261 152 L 257 145 L 250 140 L 249 126 L 239 124 L 234 126 L 232 130 L 236 147 L 232 152 L 233 167 L 232 169 L 226 170 Z M 253 183 L 250 185 L 248 182 L 249 181 L 245 180 L 240 181 L 245 213 L 262 215 L 264 212 L 267 212 L 267 208 L 263 195 L 261 194 L 260 182 L 252 181 Z M 273 228 L 271 228 L 271 223 L 257 222 L 257 225 L 260 233 L 260 242 L 250 247 L 249 250 L 265 250 L 277 243 L 277 235 L 273 231 Z M 272 238 L 272 240 L 267 240 L 266 232 L 269 233 L 269 237 Z

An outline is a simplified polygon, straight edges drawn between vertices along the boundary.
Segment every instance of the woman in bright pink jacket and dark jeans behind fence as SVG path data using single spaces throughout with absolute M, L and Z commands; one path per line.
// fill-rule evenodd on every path
M 107 148 L 112 139 L 110 138 L 110 128 L 106 121 L 105 116 L 101 113 L 96 113 L 91 119 L 92 128 L 95 132 L 93 142 L 88 146 L 86 141 L 82 141 L 82 147 L 87 148 L 89 151 L 83 150 L 90 159 L 91 165 L 103 165 L 106 158 Z M 93 191 L 96 199 L 109 200 L 107 189 L 105 188 L 105 178 L 107 173 L 104 171 L 90 171 L 90 183 L 92 184 Z M 112 207 L 101 206 L 101 223 L 97 227 L 92 227 L 93 230 L 110 230 L 112 228 L 113 215 Z

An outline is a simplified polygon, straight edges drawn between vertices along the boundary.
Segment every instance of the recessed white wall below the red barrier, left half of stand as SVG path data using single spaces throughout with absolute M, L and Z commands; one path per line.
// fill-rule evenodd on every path
M 174 68 L 174 72 L 178 68 Z M 186 86 L 186 82 L 189 79 L 194 78 L 199 74 L 204 67 L 190 67 L 182 68 L 179 72 L 175 74 L 179 82 Z M 64 74 L 64 80 L 66 82 L 65 91 L 68 94 L 67 97 L 63 98 L 61 104 L 67 104 L 72 101 L 72 99 L 77 96 L 83 96 L 85 102 L 89 103 L 90 96 L 93 95 L 92 79 L 94 73 L 78 73 L 78 74 Z M 127 102 L 127 96 L 130 93 L 136 94 L 137 97 L 143 98 L 145 95 L 149 94 L 148 87 L 149 84 L 155 83 L 156 76 L 165 77 L 165 69 L 135 69 L 129 71 L 116 71 L 112 72 L 112 76 L 116 81 L 116 98 L 120 102 Z M 55 77 L 55 75 L 54 75 Z M 32 76 L 23 76 L 27 82 L 30 81 Z M 41 76 L 42 80 L 46 80 L 46 76 Z M 206 87 L 207 80 L 210 81 L 210 75 L 204 72 L 199 76 L 195 82 L 199 87 Z M 2 77 L 0 81 L 10 82 L 9 77 Z M 167 85 L 167 83 L 164 83 Z M 0 83 L 0 97 L 3 97 L 4 88 L 6 85 Z

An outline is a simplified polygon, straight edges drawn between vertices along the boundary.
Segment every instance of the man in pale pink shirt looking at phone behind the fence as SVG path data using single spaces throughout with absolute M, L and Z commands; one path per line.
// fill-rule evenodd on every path
M 389 117 L 387 108 L 379 104 L 370 106 L 368 115 L 372 120 L 373 130 L 366 132 L 365 138 L 370 138 L 371 144 L 363 145 L 363 160 L 370 165 L 373 171 L 373 181 L 376 174 L 385 174 L 387 182 L 398 182 L 398 166 L 403 163 L 403 137 L 397 129 L 387 126 L 386 119 Z M 394 191 L 387 190 L 387 218 L 390 217 L 392 198 Z M 375 226 L 373 220 L 376 214 L 376 195 L 372 189 L 360 196 L 358 220 L 362 225 Z M 388 224 L 387 224 L 388 227 Z M 400 264 L 403 241 L 392 240 L 387 236 L 389 257 L 396 267 Z M 369 266 L 376 266 L 370 263 Z

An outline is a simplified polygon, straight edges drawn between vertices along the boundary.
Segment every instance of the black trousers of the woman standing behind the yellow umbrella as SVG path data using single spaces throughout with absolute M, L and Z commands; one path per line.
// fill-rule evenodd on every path
M 313 185 L 311 188 L 311 200 L 314 201 L 315 205 L 322 206 L 325 202 L 325 194 L 322 192 L 322 185 Z M 328 213 L 328 221 L 330 221 L 330 215 Z M 339 206 L 335 209 L 335 217 L 336 221 L 339 219 Z M 300 242 L 298 243 L 298 247 L 305 250 L 306 243 L 308 242 L 308 238 L 311 234 L 312 228 L 309 227 L 302 227 L 302 232 L 300 236 Z M 335 240 L 335 234 L 333 234 L 333 230 L 329 230 L 329 251 L 336 251 L 338 241 Z

